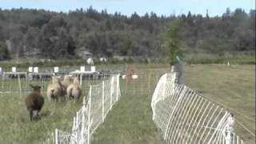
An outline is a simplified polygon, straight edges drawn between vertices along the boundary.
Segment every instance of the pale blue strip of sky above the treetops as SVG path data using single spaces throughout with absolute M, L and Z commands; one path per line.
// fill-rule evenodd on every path
M 255 10 L 255 0 L 0 0 L 1 9 L 22 7 L 68 12 L 90 6 L 100 11 L 106 9 L 110 14 L 118 11 L 128 16 L 134 12 L 144 15 L 151 11 L 166 16 L 187 14 L 188 11 L 206 15 L 208 10 L 210 17 L 214 17 L 221 16 L 227 7 L 231 11 L 242 8 L 248 13 L 251 9 Z

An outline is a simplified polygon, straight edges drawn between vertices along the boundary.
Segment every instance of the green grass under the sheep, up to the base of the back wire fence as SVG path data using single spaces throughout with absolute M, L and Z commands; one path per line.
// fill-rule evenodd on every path
M 42 108 L 41 119 L 30 122 L 26 111 L 25 98 L 2 96 L 0 98 L 0 143 L 42 143 L 55 128 L 70 130 L 71 117 L 80 104 L 74 102 L 47 102 Z

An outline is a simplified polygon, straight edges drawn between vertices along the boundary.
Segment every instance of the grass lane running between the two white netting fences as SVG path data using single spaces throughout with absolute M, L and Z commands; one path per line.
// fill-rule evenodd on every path
M 163 144 L 152 119 L 151 93 L 159 74 L 151 73 L 151 82 L 122 80 L 122 98 L 96 130 L 94 144 Z M 145 77 L 148 79 L 148 77 Z

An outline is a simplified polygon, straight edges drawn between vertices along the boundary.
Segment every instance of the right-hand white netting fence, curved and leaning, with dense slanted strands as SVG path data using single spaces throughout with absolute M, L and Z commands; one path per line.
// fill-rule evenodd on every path
M 163 74 L 151 101 L 153 120 L 166 143 L 242 144 L 234 134 L 234 118 L 221 106 Z

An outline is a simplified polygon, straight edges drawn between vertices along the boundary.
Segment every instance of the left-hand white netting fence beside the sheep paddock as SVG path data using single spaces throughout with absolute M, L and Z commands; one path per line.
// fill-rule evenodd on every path
M 56 129 L 52 138 L 45 143 L 89 144 L 92 134 L 104 122 L 106 114 L 120 97 L 119 75 L 90 86 L 88 96 L 83 98 L 82 108 L 74 117 L 71 132 Z

